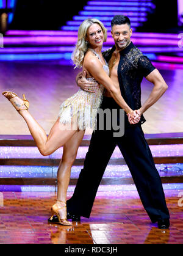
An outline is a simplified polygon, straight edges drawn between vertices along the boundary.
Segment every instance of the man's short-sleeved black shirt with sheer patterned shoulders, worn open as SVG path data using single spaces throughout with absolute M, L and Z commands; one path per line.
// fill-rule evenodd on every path
M 102 54 L 109 62 L 115 46 L 104 51 Z M 131 42 L 120 51 L 120 62 L 118 64 L 118 81 L 121 95 L 128 106 L 135 110 L 141 108 L 141 82 L 143 77 L 148 76 L 155 67 L 151 61 Z M 140 124 L 146 120 L 142 115 Z

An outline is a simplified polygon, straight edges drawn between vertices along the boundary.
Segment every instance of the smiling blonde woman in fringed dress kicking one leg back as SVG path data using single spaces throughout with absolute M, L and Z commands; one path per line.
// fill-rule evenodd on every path
M 63 155 L 57 172 L 57 200 L 51 208 L 51 219 L 56 214 L 62 225 L 72 225 L 72 222 L 66 219 L 66 192 L 70 181 L 71 167 L 76 159 L 85 129 L 95 128 L 96 112 L 101 104 L 104 87 L 109 90 L 126 113 L 131 113 L 131 116 L 134 117 L 132 122 L 138 122 L 135 120 L 135 111 L 132 111 L 121 97 L 120 88 L 116 88 L 109 78 L 109 67 L 101 54 L 102 44 L 106 42 L 106 39 L 107 31 L 101 21 L 87 19 L 82 22 L 73 53 L 73 62 L 76 67 L 82 68 L 86 72 L 89 81 L 96 80 L 101 86 L 96 87 L 95 93 L 79 89 L 77 93 L 64 101 L 60 106 L 59 117 L 52 126 L 48 137 L 45 130 L 28 111 L 29 101 L 24 95 L 21 100 L 14 92 L 2 92 L 26 121 L 41 155 L 51 155 L 63 146 Z

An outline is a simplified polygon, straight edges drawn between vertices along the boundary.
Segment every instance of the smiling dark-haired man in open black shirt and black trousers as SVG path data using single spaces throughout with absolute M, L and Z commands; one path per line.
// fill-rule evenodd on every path
M 79 220 L 80 216 L 90 218 L 98 186 L 113 150 L 118 145 L 149 218 L 152 222 L 158 222 L 159 229 L 168 229 L 170 215 L 162 182 L 141 128 L 145 122 L 143 112 L 159 100 L 168 86 L 148 57 L 131 42 L 131 35 L 129 18 L 123 15 L 115 16 L 112 20 L 115 46 L 105 51 L 103 56 L 109 64 L 110 78 L 116 86 L 120 86 L 121 95 L 129 107 L 140 116 L 140 122 L 132 125 L 129 123 L 131 116 L 125 115 L 122 137 L 114 137 L 113 130 L 93 132 L 84 168 L 79 175 L 73 196 L 67 201 L 68 218 L 73 221 Z M 152 82 L 154 87 L 149 98 L 141 105 L 140 84 L 143 77 Z M 120 109 L 120 106 L 106 91 L 101 109 L 110 109 L 112 112 L 112 109 Z

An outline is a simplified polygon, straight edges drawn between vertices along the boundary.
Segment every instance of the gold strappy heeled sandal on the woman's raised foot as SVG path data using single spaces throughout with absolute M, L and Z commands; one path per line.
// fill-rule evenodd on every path
M 16 111 L 21 111 L 21 110 L 28 110 L 29 109 L 29 101 L 26 100 L 25 95 L 23 94 L 23 99 L 20 98 L 20 100 L 22 101 L 22 103 L 17 103 L 16 98 L 18 97 L 18 95 L 15 92 L 9 92 L 9 91 L 5 91 L 2 92 L 2 95 L 4 95 L 5 98 L 7 98 L 10 103 L 12 103 L 13 107 L 16 109 Z M 12 100 L 12 98 L 15 98 L 14 100 Z M 19 97 L 18 97 L 19 98 Z

